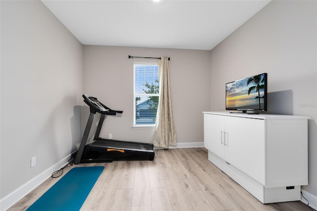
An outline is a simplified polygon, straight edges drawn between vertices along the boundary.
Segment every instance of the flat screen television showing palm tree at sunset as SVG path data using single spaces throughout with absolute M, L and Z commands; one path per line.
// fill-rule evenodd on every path
M 267 73 L 226 83 L 226 110 L 267 111 Z

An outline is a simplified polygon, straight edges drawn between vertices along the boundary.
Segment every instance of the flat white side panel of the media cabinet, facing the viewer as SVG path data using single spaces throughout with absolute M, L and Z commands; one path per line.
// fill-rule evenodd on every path
M 269 119 L 267 187 L 308 184 L 307 119 Z

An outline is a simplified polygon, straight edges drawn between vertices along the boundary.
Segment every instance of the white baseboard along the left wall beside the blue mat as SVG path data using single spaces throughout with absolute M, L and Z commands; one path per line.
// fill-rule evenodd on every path
M 70 160 L 71 156 L 67 156 L 66 158 L 61 159 L 59 162 L 51 166 L 50 168 L 43 171 L 41 174 L 37 175 L 33 179 L 26 182 L 21 187 L 17 188 L 16 190 L 12 191 L 5 197 L 0 200 L 0 211 L 6 211 L 10 207 L 12 207 L 15 203 L 25 197 L 28 193 L 42 184 L 45 180 L 50 178 L 52 173 L 62 166 L 66 165 Z

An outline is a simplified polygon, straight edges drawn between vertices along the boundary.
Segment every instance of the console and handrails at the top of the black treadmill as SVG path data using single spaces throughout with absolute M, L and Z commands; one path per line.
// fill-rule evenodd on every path
M 117 113 L 123 113 L 122 110 L 112 110 L 109 107 L 102 104 L 97 98 L 84 94 L 84 102 L 90 107 L 91 113 L 101 113 L 106 115 L 116 115 Z

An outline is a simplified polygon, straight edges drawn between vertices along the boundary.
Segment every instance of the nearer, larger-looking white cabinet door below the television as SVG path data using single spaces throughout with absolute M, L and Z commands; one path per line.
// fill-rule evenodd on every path
M 265 185 L 265 120 L 225 117 L 225 160 Z

